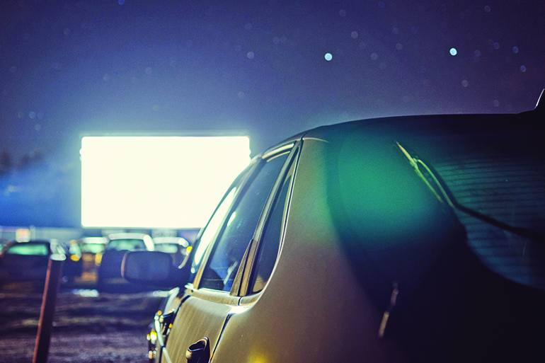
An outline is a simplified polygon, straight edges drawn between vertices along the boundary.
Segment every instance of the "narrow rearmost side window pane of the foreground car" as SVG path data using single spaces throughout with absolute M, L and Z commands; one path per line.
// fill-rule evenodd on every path
M 294 160 L 294 159 L 292 159 Z M 289 185 L 293 178 L 295 163 L 292 161 L 285 180 L 282 183 L 280 193 L 277 195 L 275 203 L 270 212 L 265 232 L 260 241 L 260 251 L 256 270 L 251 278 L 250 292 L 260 292 L 268 282 L 272 268 L 275 267 L 278 248 L 280 247 L 280 238 L 282 237 L 282 221 L 285 211 L 289 204 L 288 192 Z

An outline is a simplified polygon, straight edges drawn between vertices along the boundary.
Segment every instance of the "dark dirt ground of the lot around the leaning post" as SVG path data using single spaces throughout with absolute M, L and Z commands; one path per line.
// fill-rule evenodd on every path
M 75 293 L 74 293 L 75 292 Z M 47 362 L 147 362 L 148 325 L 164 292 L 60 292 Z M 0 361 L 33 361 L 42 294 L 0 293 Z

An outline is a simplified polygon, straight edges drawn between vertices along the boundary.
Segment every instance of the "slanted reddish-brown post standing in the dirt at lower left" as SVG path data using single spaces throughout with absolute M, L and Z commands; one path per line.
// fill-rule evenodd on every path
M 36 337 L 36 345 L 34 347 L 33 363 L 47 362 L 55 302 L 57 301 L 57 291 L 59 290 L 64 259 L 64 255 L 51 255 L 49 264 L 47 265 L 47 275 L 45 277 L 45 289 L 42 298 L 42 310 L 40 311 L 40 323 L 38 323 L 38 336 Z

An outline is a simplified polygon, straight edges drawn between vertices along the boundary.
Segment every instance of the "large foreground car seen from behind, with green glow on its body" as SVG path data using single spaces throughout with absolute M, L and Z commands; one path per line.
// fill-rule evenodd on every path
M 543 362 L 544 118 L 360 120 L 264 151 L 188 263 L 125 255 L 127 280 L 173 287 L 150 360 Z

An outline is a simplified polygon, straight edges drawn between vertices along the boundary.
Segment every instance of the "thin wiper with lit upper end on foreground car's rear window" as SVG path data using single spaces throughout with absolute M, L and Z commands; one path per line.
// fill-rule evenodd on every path
M 441 178 L 439 173 L 435 171 L 435 169 L 431 166 L 426 164 L 422 159 L 420 159 L 416 155 L 411 155 L 401 144 L 396 142 L 396 145 L 401 150 L 403 155 L 408 159 L 409 163 L 411 163 L 411 166 L 414 168 L 415 173 L 424 181 L 426 185 L 428 185 L 428 188 L 433 192 L 433 194 L 439 199 L 441 202 L 448 204 L 452 208 L 456 208 L 461 212 L 464 212 L 465 214 L 469 214 L 471 217 L 475 217 L 477 219 L 480 219 L 481 221 L 484 221 L 488 224 L 492 224 L 493 226 L 496 226 L 500 229 L 503 229 L 504 231 L 509 231 L 513 234 L 517 234 L 518 236 L 529 238 L 532 241 L 537 241 L 540 243 L 544 243 L 545 241 L 545 234 L 542 234 L 539 231 L 534 231 L 533 229 L 527 229 L 523 227 L 517 227 L 517 226 L 511 226 L 510 224 L 503 223 L 503 221 L 498 221 L 498 219 L 495 219 L 493 217 L 487 216 L 486 214 L 482 214 L 480 212 L 477 212 L 474 209 L 468 208 L 462 204 L 460 204 L 454 195 L 452 194 L 451 190 L 447 186 L 446 183 L 444 183 L 444 180 Z M 421 170 L 422 169 L 422 170 Z M 426 178 L 424 173 L 428 175 L 429 178 Z M 435 185 L 432 185 L 432 183 Z

